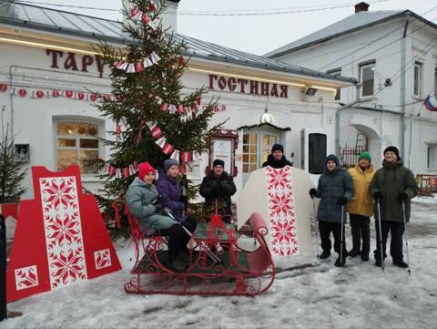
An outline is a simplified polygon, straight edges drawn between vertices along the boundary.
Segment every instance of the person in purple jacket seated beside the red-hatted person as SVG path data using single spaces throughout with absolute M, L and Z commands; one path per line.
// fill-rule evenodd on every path
M 175 159 L 164 161 L 164 171 L 158 176 L 158 192 L 161 206 L 173 213 L 175 219 L 184 225 L 188 231 L 194 231 L 197 221 L 187 216 L 187 205 L 181 201 L 182 191 L 178 185 L 179 163 Z

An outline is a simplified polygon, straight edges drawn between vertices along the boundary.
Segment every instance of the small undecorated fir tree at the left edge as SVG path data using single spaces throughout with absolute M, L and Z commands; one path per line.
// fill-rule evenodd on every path
M 24 162 L 15 160 L 14 136 L 3 120 L 5 106 L 1 109 L 2 139 L 0 140 L 0 203 L 18 202 L 25 192 L 21 186 L 25 179 Z

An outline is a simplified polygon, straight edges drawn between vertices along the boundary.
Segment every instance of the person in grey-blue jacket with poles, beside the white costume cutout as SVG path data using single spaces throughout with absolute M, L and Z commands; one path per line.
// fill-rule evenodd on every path
M 319 221 L 321 249 L 320 259 L 330 257 L 330 232 L 334 236 L 334 251 L 339 254 L 335 266 L 344 266 L 348 252 L 344 237 L 346 223 L 345 204 L 353 196 L 351 175 L 339 164 L 339 159 L 330 154 L 325 159 L 325 167 L 317 189 L 310 189 L 311 198 L 320 198 L 317 219 Z

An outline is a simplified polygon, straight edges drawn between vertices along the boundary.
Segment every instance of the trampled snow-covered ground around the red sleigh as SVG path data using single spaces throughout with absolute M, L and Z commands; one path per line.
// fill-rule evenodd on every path
M 0 328 L 437 328 L 436 212 L 437 198 L 413 202 L 411 276 L 390 256 L 384 272 L 360 258 L 337 268 L 331 256 L 294 271 L 278 261 L 273 286 L 257 297 L 134 295 L 123 290 L 132 246 L 117 242 L 122 271 L 10 303 L 9 311 L 23 315 Z M 372 233 L 371 248 L 373 227 Z M 351 232 L 346 235 L 351 246 Z

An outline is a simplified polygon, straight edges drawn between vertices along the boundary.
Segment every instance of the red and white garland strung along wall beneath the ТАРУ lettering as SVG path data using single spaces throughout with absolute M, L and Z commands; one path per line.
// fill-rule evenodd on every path
M 0 83 L 0 92 L 5 93 L 9 89 L 9 94 L 19 96 L 21 98 L 70 98 L 77 100 L 85 100 L 88 102 L 96 102 L 98 97 L 93 93 L 86 93 L 83 91 L 75 91 L 72 89 L 34 89 L 27 87 L 11 87 L 7 84 Z M 114 95 L 102 95 L 105 100 L 117 100 Z

